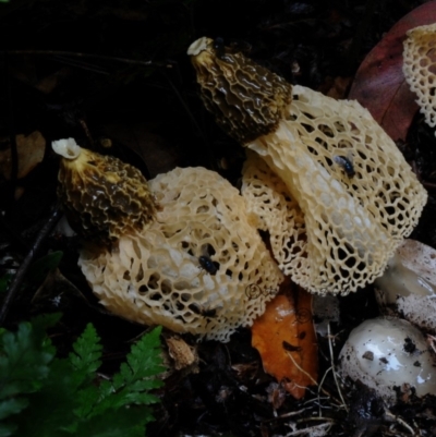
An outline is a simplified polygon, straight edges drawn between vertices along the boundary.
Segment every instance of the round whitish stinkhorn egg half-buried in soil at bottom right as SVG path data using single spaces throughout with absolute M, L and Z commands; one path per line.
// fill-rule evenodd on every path
M 434 356 L 409 321 L 374 318 L 354 328 L 339 354 L 340 371 L 374 389 L 388 403 L 413 389 L 436 394 Z

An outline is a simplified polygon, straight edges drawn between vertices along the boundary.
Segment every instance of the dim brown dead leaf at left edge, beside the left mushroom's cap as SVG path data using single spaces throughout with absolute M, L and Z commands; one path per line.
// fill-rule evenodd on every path
M 44 159 L 46 150 L 46 139 L 43 134 L 38 131 L 32 132 L 32 134 L 16 135 L 16 153 L 19 158 L 19 172 L 17 179 L 22 179 L 27 175 L 39 162 Z M 0 151 L 0 173 L 4 179 L 11 179 L 11 149 Z

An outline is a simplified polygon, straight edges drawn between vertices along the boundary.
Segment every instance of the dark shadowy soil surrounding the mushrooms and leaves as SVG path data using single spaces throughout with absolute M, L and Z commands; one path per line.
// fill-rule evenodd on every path
M 286 77 L 327 92 L 338 77 L 352 80 L 366 53 L 404 14 L 425 1 L 413 0 L 11 0 L 0 3 L 0 146 L 14 147 L 16 134 L 35 130 L 47 144 L 74 137 L 87 148 L 138 167 L 147 178 L 174 167 L 204 166 L 234 185 L 242 148 L 214 123 L 198 97 L 186 56 L 201 36 L 226 45 Z M 238 11 L 237 11 L 238 5 Z M 82 54 L 81 54 L 82 53 Z M 86 54 L 86 56 L 85 56 Z M 351 83 L 351 82 L 349 82 Z M 104 147 L 110 143 L 108 149 Z M 407 144 L 399 145 L 429 191 L 428 205 L 412 238 L 436 247 L 435 136 L 416 116 Z M 14 154 L 12 154 L 12 157 Z M 47 147 L 41 165 L 25 179 L 0 177 L 0 247 L 3 272 L 15 272 L 56 205 L 58 159 Z M 14 177 L 15 175 L 15 177 Z M 16 198 L 16 189 L 23 194 Z M 36 257 L 62 251 L 59 280 L 39 293 L 43 279 L 26 277 L 5 317 L 14 327 L 31 315 L 62 311 L 56 342 L 65 353 L 88 321 L 102 338 L 102 372 L 114 372 L 144 331 L 99 311 L 76 266 L 78 241 L 60 234 L 45 239 Z M 62 289 L 60 289 L 62 288 Z M 60 294 L 60 306 L 52 298 Z M 332 324 L 337 359 L 349 331 L 378 314 L 372 288 L 340 299 Z M 195 338 L 186 336 L 191 344 Z M 436 434 L 432 399 L 399 402 L 386 415 L 374 393 L 342 387 L 349 412 L 329 372 L 318 394 L 300 401 L 265 374 L 250 329 L 229 343 L 197 344 L 199 373 L 173 373 L 158 393 L 157 421 L 148 436 L 408 436 Z M 326 338 L 319 338 L 319 375 L 331 366 Z M 269 393 L 269 394 L 268 394 Z M 280 401 L 277 401 L 277 399 Z M 316 434 L 320 425 L 328 434 Z M 294 427 L 293 427 L 294 426 Z M 323 425 L 324 426 L 324 425 Z M 295 429 L 310 428 L 307 432 Z M 312 429 L 312 430 L 311 430 Z M 419 433 L 421 429 L 421 434 Z

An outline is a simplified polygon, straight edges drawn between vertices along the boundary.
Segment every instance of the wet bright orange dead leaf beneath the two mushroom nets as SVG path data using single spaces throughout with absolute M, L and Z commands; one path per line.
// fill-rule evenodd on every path
M 316 385 L 318 350 L 312 320 L 312 295 L 303 289 L 277 295 L 252 327 L 252 344 L 261 354 L 265 372 L 301 399 Z

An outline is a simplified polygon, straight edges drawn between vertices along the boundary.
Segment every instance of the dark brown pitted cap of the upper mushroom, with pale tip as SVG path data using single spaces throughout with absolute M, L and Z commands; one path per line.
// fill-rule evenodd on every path
M 226 132 L 245 143 L 277 126 L 291 101 L 292 86 L 282 77 L 226 48 L 217 56 L 210 38 L 194 41 L 187 54 L 203 102 Z

